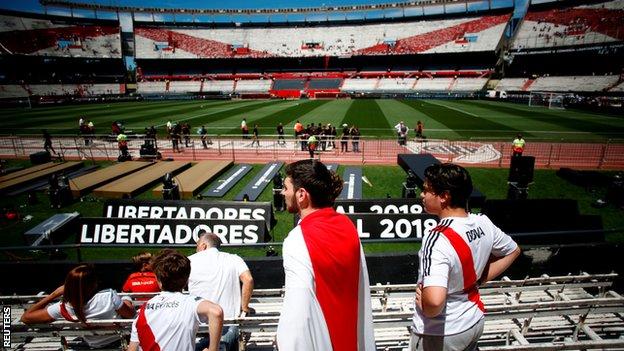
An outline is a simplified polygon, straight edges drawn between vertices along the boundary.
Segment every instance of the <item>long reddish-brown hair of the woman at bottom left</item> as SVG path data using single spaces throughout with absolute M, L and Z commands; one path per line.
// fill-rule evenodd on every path
M 83 264 L 67 273 L 63 301 L 69 303 L 78 320 L 86 323 L 85 305 L 97 292 L 98 280 L 92 265 Z

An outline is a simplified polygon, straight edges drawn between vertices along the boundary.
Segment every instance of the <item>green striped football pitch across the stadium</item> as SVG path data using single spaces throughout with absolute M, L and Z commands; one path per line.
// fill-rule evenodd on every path
M 394 125 L 414 128 L 421 120 L 432 139 L 506 140 L 522 133 L 544 141 L 624 139 L 624 116 L 579 110 L 556 110 L 487 100 L 242 100 L 158 101 L 0 109 L 0 134 L 75 135 L 80 117 L 91 120 L 97 134 L 108 134 L 113 121 L 141 133 L 155 126 L 164 133 L 168 120 L 205 125 L 210 134 L 238 134 L 240 122 L 258 124 L 261 134 L 275 134 L 283 123 L 357 125 L 363 136 L 393 137 Z M 340 129 L 340 127 L 338 127 Z

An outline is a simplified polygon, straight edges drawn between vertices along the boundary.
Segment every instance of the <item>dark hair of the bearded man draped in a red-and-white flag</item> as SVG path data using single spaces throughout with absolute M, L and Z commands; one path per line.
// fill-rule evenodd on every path
M 317 160 L 300 160 L 286 166 L 286 176 L 295 190 L 305 189 L 315 208 L 331 207 L 342 192 L 343 182 L 338 174 Z

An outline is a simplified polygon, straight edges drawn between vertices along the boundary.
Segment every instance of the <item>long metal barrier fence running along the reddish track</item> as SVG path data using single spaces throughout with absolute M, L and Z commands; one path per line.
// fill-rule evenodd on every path
M 180 140 L 178 150 L 173 149 L 173 142 L 168 138 L 156 140 L 158 151 L 164 159 L 232 160 L 235 162 L 267 162 L 280 160 L 291 162 L 309 158 L 307 141 L 277 135 L 262 136 L 258 143 L 240 135 L 210 135 L 211 144 L 202 144 L 199 136 L 191 136 L 187 144 Z M 380 137 L 362 137 L 358 141 L 341 141 L 319 138 L 314 157 L 324 162 L 341 164 L 396 164 L 398 154 L 429 153 L 444 162 L 464 165 L 507 168 L 511 160 L 511 143 L 501 140 L 437 140 L 412 139 L 399 143 L 396 139 Z M 128 147 L 133 158 L 140 158 L 140 148 L 145 142 L 142 136 L 131 136 Z M 354 152 L 357 142 L 359 151 Z M 252 145 L 253 144 L 253 145 Z M 109 160 L 117 159 L 119 150 L 114 137 L 108 135 L 56 136 L 53 139 L 54 150 L 64 159 Z M 0 137 L 0 157 L 27 158 L 30 154 L 43 151 L 40 136 L 3 136 Z M 535 157 L 536 168 L 624 168 L 624 142 L 621 140 L 595 143 L 569 143 L 529 141 L 525 155 Z

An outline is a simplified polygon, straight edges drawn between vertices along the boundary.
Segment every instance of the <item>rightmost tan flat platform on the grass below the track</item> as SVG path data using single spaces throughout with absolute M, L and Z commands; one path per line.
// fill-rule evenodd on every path
M 232 166 L 232 161 L 201 161 L 174 178 L 180 189 L 182 199 L 192 199 L 197 192 Z M 161 197 L 163 186 L 156 187 L 152 193 Z

